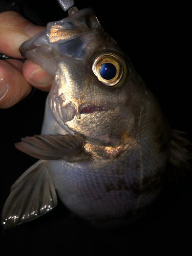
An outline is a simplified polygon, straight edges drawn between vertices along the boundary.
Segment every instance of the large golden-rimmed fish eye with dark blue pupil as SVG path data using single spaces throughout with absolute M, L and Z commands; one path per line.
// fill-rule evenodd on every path
M 92 61 L 92 70 L 99 81 L 110 87 L 121 86 L 127 77 L 125 60 L 112 50 L 96 54 Z

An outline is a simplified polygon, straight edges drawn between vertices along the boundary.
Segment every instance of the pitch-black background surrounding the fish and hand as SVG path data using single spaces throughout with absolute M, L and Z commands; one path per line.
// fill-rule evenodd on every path
M 67 16 L 56 0 L 49 4 L 45 0 L 25 3 L 39 16 L 42 24 Z M 189 6 L 162 1 L 153 4 L 143 1 L 141 4 L 140 1 L 101 0 L 76 0 L 75 6 L 78 9 L 92 7 L 96 11 L 104 30 L 126 51 L 155 94 L 170 126 L 187 132 L 185 137 L 192 141 Z M 22 137 L 40 134 L 46 96 L 46 93 L 36 90 L 33 96 L 12 108 L 0 110 L 0 211 L 11 185 L 36 162 L 36 159 L 16 150 L 14 143 Z M 132 226 L 112 231 L 89 227 L 86 222 L 73 217 L 59 201 L 57 207 L 44 217 L 7 230 L 4 234 L 3 229 L 0 230 L 1 248 L 5 249 L 4 255 L 116 253 L 143 256 L 179 251 L 186 255 L 190 241 L 188 231 L 192 227 L 189 210 L 191 181 L 191 172 L 186 171 L 186 178 L 181 178 L 178 184 L 165 186 L 145 218 Z

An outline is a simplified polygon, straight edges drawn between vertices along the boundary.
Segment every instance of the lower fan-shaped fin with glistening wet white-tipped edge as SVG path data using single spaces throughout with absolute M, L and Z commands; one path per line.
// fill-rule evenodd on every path
M 46 214 L 57 205 L 57 195 L 44 160 L 33 164 L 11 187 L 2 211 L 4 231 Z

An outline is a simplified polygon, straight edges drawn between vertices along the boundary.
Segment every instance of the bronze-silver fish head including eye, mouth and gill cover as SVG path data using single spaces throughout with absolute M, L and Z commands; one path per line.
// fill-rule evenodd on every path
M 21 53 L 55 77 L 49 107 L 68 133 L 112 146 L 137 134 L 144 105 L 154 98 L 91 8 L 48 23 Z

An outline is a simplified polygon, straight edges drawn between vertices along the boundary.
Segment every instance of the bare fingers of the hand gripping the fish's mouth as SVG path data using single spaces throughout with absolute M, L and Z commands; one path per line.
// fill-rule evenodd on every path
M 24 41 L 43 30 L 14 11 L 0 13 L 0 52 L 23 58 L 19 47 Z M 24 99 L 35 87 L 50 91 L 53 77 L 36 63 L 15 59 L 0 60 L 0 108 L 7 109 Z

